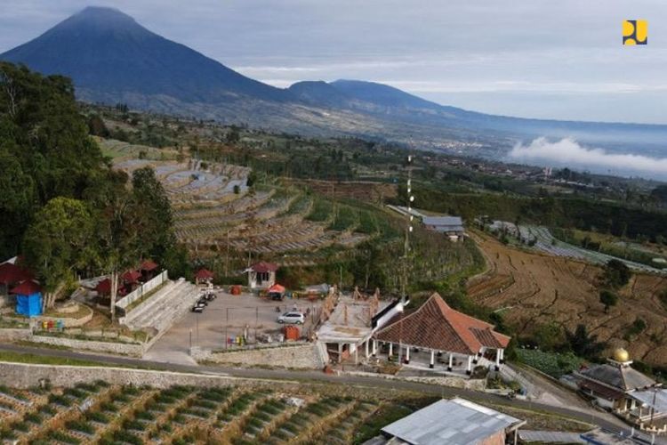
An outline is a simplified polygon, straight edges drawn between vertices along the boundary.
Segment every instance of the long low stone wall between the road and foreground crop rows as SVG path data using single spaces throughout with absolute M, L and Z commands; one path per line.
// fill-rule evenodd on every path
M 104 380 L 108 384 L 149 384 L 166 388 L 174 384 L 196 386 L 226 386 L 229 384 L 257 384 L 243 378 L 205 374 L 154 371 L 148 369 L 74 367 L 0 362 L 0 382 L 16 388 L 36 386 L 40 380 L 49 380 L 53 386 L 72 386 Z M 269 380 L 266 382 L 270 383 Z

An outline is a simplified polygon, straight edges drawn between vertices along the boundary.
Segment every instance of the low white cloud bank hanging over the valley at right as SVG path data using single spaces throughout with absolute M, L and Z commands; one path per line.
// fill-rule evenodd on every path
M 574 168 L 589 168 L 599 173 L 646 174 L 667 177 L 667 158 L 650 158 L 627 153 L 609 153 L 607 150 L 586 148 L 571 138 L 550 142 L 541 137 L 528 145 L 518 143 L 510 151 L 510 158 L 534 164 L 552 164 Z

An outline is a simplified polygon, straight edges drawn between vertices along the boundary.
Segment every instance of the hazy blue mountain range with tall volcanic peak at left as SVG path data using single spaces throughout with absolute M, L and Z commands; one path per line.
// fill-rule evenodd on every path
M 79 99 L 309 136 L 353 135 L 502 158 L 518 141 L 575 137 L 607 150 L 660 153 L 665 125 L 492 116 L 358 80 L 262 84 L 115 9 L 89 7 L 0 54 L 72 77 Z

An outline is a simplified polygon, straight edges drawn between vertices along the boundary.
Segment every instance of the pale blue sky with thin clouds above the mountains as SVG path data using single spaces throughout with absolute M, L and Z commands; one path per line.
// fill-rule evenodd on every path
M 667 124 L 664 0 L 3 0 L 0 52 L 87 5 L 271 85 L 357 78 L 494 114 Z M 621 45 L 623 19 L 648 44 Z

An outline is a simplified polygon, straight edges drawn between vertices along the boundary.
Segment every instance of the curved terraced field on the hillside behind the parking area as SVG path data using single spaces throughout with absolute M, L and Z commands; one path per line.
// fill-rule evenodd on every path
M 325 247 L 354 247 L 388 229 L 373 211 L 295 188 L 250 189 L 250 170 L 242 166 L 127 158 L 116 166 L 128 173 L 156 170 L 172 202 L 176 236 L 200 257 L 223 249 L 239 257 L 290 253 L 291 263 L 306 265 L 317 262 L 313 254 Z

